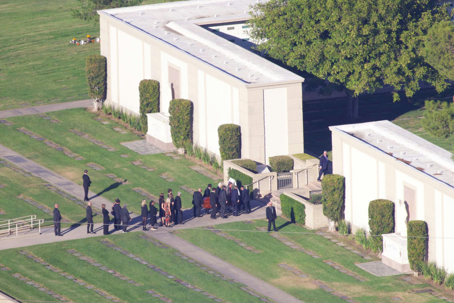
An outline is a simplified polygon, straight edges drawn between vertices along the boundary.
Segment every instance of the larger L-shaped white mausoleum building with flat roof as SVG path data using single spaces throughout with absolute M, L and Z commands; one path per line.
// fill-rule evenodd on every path
M 241 126 L 242 158 L 303 152 L 299 75 L 251 50 L 255 0 L 190 0 L 100 10 L 107 57 L 106 102 L 139 114 L 142 79 L 160 83 L 160 111 L 148 114 L 147 140 L 172 149 L 168 106 L 193 103 L 194 143 L 219 155 L 217 128 Z

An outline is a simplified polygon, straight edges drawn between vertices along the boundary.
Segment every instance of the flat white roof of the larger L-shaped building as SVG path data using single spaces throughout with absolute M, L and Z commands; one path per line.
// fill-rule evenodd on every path
M 260 0 L 267 1 L 267 0 Z M 304 78 L 199 25 L 248 20 L 256 0 L 189 0 L 139 5 L 98 14 L 173 45 L 245 84 L 303 82 Z

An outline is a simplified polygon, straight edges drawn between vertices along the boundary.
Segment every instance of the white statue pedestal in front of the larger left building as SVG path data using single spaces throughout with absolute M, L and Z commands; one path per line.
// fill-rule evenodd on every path
M 164 113 L 147 114 L 148 132 L 147 142 L 165 151 L 176 150 L 170 135 L 169 117 Z

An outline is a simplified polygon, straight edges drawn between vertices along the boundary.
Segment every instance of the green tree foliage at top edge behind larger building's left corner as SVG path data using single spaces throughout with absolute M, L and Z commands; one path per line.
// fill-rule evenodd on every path
M 97 10 L 140 5 L 142 0 L 79 0 L 79 3 L 80 9 L 72 10 L 74 18 L 82 20 L 94 19 L 96 22 L 99 22 Z

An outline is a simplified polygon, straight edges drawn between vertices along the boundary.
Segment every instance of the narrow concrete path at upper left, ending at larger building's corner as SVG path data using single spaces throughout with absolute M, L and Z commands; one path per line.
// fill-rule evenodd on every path
M 78 107 L 92 107 L 92 106 L 93 106 L 93 100 L 91 100 L 91 99 L 69 101 L 69 102 L 62 102 L 62 103 L 32 106 L 32 107 L 24 107 L 22 109 L 2 110 L 2 111 L 0 111 L 0 118 L 23 116 L 26 114 L 42 114 L 42 113 L 47 113 L 49 111 L 57 111 L 57 110 L 62 110 L 62 109 L 74 109 L 74 108 L 78 108 Z

